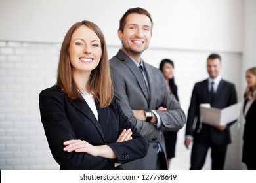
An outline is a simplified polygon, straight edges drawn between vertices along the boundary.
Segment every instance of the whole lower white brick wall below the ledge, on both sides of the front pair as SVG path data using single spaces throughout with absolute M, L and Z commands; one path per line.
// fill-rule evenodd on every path
M 118 49 L 109 46 L 109 58 Z M 56 82 L 59 50 L 59 43 L 0 41 L 0 169 L 59 169 L 45 138 L 38 105 L 39 92 Z M 205 59 L 209 54 L 149 48 L 143 58 L 155 67 L 163 58 L 173 59 L 181 107 L 187 114 L 194 83 L 207 77 Z M 241 54 L 219 54 L 223 58 L 223 77 L 236 84 L 241 101 Z M 225 169 L 244 169 L 240 158 L 242 129 L 236 127 L 232 127 L 233 143 L 228 147 Z M 189 162 L 183 128 L 178 133 L 171 169 L 188 169 Z M 208 156 L 203 169 L 210 168 Z

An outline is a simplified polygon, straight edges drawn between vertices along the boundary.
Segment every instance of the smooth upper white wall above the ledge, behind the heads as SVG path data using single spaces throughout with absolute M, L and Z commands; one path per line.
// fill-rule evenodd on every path
M 119 19 L 133 7 L 152 14 L 152 47 L 242 51 L 242 0 L 0 0 L 0 40 L 61 42 L 74 22 L 91 20 L 116 46 Z

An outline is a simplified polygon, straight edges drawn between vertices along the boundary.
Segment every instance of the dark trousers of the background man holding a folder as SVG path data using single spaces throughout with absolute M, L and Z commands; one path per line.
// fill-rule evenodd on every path
M 227 144 L 216 145 L 213 143 L 193 143 L 191 152 L 190 170 L 202 169 L 208 149 L 211 148 L 211 169 L 223 170 L 226 159 Z

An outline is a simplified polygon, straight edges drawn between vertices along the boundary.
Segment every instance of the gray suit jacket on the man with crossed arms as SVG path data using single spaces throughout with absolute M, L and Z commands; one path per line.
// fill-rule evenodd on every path
M 132 110 L 155 110 L 161 118 L 161 129 L 168 131 L 181 129 L 186 122 L 185 114 L 175 96 L 169 93 L 159 69 L 144 62 L 150 88 L 150 96 L 148 96 L 142 73 L 125 52 L 119 50 L 117 55 L 110 59 L 110 68 L 114 95 L 118 103 L 130 122 L 150 144 L 145 158 L 127 163 L 123 167 L 125 169 L 156 169 L 158 142 L 165 152 L 163 133 L 156 128 L 156 125 L 137 120 Z M 158 111 L 160 106 L 166 107 L 167 110 Z

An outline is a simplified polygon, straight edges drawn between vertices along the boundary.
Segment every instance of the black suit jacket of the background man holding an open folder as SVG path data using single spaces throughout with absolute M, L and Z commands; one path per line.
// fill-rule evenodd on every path
M 237 102 L 236 90 L 234 84 L 221 80 L 219 86 L 211 103 L 211 107 L 225 108 Z M 227 125 L 224 131 L 219 131 L 215 127 L 207 124 L 200 124 L 200 111 L 199 106 L 201 103 L 210 103 L 210 96 L 208 90 L 208 80 L 203 80 L 195 84 L 190 107 L 188 109 L 188 119 L 186 122 L 186 135 L 192 135 L 194 142 L 214 142 L 215 144 L 229 144 L 230 138 L 230 125 Z M 194 120 L 196 125 L 194 125 Z

